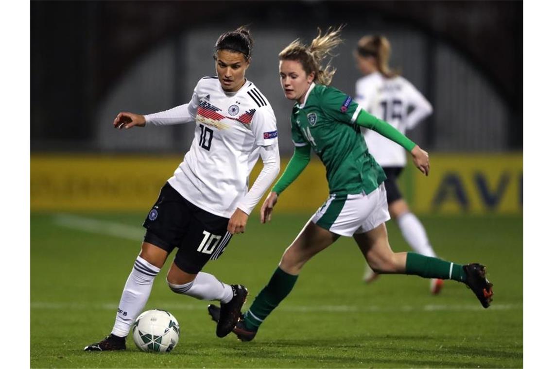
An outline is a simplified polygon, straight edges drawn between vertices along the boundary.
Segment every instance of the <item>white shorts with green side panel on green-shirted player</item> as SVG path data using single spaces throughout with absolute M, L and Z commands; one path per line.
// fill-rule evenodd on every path
M 370 194 L 330 195 L 311 221 L 337 235 L 352 237 L 391 219 L 384 183 Z

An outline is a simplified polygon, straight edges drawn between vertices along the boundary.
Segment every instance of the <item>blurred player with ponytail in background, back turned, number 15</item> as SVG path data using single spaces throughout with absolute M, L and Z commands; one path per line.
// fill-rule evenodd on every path
M 388 66 L 391 45 L 386 37 L 365 36 L 358 41 L 355 51 L 356 65 L 364 75 L 356 81 L 356 102 L 373 116 L 387 121 L 405 133 L 433 112 L 431 104 L 408 80 L 391 71 Z M 372 129 L 362 127 L 367 149 L 381 165 L 387 179 L 388 211 L 397 221 L 402 235 L 414 251 L 425 256 L 437 256 L 429 243 L 425 228 L 412 214 L 402 198 L 396 179 L 406 166 L 406 153 L 395 142 Z M 363 279 L 375 280 L 379 274 L 366 266 Z M 443 285 L 442 279 L 430 281 L 431 292 L 437 294 Z

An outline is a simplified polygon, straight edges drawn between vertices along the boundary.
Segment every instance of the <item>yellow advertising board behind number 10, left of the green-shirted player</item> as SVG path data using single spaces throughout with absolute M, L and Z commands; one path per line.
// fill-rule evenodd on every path
M 32 155 L 31 210 L 148 211 L 182 160 L 181 156 Z M 283 160 L 281 171 L 287 162 Z M 250 184 L 260 170 L 258 162 Z M 280 209 L 315 210 L 327 191 L 325 167 L 314 159 L 281 196 Z

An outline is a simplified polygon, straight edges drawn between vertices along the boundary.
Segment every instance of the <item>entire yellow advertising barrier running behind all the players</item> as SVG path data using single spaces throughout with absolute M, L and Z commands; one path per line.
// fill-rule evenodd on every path
M 32 211 L 147 211 L 181 156 L 33 154 Z M 281 162 L 281 171 L 288 158 Z M 250 176 L 253 183 L 259 162 Z M 521 214 L 523 158 L 517 154 L 432 154 L 431 173 L 411 165 L 400 186 L 419 214 Z M 312 158 L 279 198 L 280 211 L 313 212 L 327 198 L 325 167 Z M 260 201 L 261 202 L 261 201 Z M 257 209 L 259 209 L 259 206 Z

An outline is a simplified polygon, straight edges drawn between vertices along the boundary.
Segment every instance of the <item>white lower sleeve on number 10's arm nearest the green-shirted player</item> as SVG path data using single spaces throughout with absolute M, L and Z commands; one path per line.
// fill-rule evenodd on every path
M 260 147 L 261 161 L 264 163 L 264 167 L 261 169 L 258 178 L 246 194 L 242 201 L 239 202 L 238 208 L 250 215 L 250 212 L 254 209 L 256 204 L 261 199 L 261 196 L 265 194 L 269 186 L 277 175 L 279 174 L 280 158 L 279 158 L 279 145 L 277 139 L 273 140 L 271 145 L 264 145 Z

